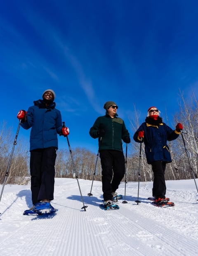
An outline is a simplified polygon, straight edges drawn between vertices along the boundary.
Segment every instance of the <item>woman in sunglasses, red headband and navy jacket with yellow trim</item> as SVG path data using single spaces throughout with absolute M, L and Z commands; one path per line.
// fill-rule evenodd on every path
M 177 139 L 182 129 L 181 123 L 177 123 L 176 129 L 172 130 L 163 123 L 160 111 L 156 107 L 150 107 L 145 122 L 139 126 L 133 136 L 136 142 L 144 142 L 146 160 L 148 164 L 151 164 L 154 174 L 153 197 L 155 197 L 156 204 L 169 201 L 165 197 L 164 173 L 166 164 L 170 163 L 172 159 L 167 141 Z

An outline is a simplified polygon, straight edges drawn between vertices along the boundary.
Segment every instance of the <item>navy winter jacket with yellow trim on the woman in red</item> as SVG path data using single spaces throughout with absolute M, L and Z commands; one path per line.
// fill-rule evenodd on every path
M 153 161 L 164 161 L 167 163 L 172 161 L 167 140 L 171 141 L 177 139 L 180 132 L 172 130 L 163 122 L 158 125 L 151 125 L 144 122 L 133 136 L 133 139 L 136 142 L 141 142 L 138 136 L 139 131 L 144 131 L 143 142 L 145 145 L 145 154 L 148 164 L 152 164 Z

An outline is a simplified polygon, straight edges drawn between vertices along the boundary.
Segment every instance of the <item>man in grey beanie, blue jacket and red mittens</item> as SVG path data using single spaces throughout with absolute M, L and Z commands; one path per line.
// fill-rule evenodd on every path
M 54 199 L 54 177 L 57 134 L 68 135 L 68 128 L 62 128 L 61 112 L 55 108 L 55 92 L 47 89 L 42 100 L 34 101 L 28 111 L 20 110 L 17 118 L 24 129 L 31 128 L 30 133 L 30 173 L 32 203 L 39 208 L 39 202 L 50 206 Z

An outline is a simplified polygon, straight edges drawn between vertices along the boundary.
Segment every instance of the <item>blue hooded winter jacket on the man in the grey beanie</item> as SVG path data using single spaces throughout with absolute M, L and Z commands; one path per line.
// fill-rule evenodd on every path
M 30 151 L 48 147 L 58 149 L 57 133 L 61 132 L 62 118 L 55 106 L 55 102 L 46 107 L 43 100 L 37 100 L 34 106 L 28 108 L 27 121 L 21 126 L 26 130 L 31 128 Z

